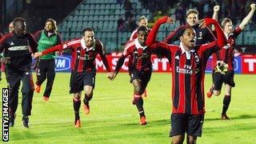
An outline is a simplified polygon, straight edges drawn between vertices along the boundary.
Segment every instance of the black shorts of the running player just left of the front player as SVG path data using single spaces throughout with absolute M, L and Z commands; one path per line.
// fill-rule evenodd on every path
M 134 79 L 140 79 L 142 82 L 150 82 L 151 74 L 152 74 L 152 69 L 150 68 L 149 70 L 137 70 L 137 69 L 132 69 L 129 70 L 130 74 L 130 83 L 133 82 Z

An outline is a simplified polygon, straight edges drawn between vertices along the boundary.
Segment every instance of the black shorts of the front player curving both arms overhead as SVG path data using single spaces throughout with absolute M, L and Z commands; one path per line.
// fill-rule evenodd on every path
M 201 137 L 204 114 L 171 114 L 170 137 L 184 135 Z

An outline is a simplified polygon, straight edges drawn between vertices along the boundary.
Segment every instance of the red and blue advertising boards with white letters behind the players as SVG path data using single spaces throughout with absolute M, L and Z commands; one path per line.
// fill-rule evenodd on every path
M 110 69 L 114 70 L 120 58 L 121 53 L 112 53 L 106 56 L 108 62 L 110 63 Z M 55 60 L 56 71 L 69 72 L 70 71 L 70 55 L 62 55 Z M 168 59 L 162 58 L 158 59 L 155 55 L 152 57 L 154 72 L 170 72 L 170 66 Z M 124 65 L 121 68 L 121 72 L 128 70 L 128 58 L 126 58 Z M 101 58 L 98 56 L 96 58 L 96 68 L 98 72 L 106 72 L 106 67 L 103 65 Z M 3 67 L 2 67 L 2 70 Z M 212 71 L 212 58 L 210 58 L 206 65 L 206 73 L 211 73 Z M 234 72 L 236 74 L 256 74 L 256 54 L 237 54 L 234 57 Z

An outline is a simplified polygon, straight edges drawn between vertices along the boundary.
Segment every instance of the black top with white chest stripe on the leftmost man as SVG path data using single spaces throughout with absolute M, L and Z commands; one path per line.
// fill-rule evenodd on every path
M 32 62 L 31 53 L 38 51 L 38 43 L 32 34 L 25 33 L 18 36 L 15 32 L 6 34 L 0 40 L 0 54 L 10 57 L 10 63 L 6 64 L 8 70 L 25 72 L 30 70 Z

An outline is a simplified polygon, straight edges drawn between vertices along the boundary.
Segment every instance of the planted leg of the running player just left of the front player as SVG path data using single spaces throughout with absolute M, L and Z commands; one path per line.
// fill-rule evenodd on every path
M 145 90 L 142 90 L 142 85 L 141 82 L 138 78 L 134 79 L 132 81 L 134 85 L 134 100 L 133 104 L 137 106 L 138 109 L 138 114 L 140 116 L 140 124 L 141 125 L 146 125 L 146 116 L 144 114 L 144 109 L 143 109 L 143 99 L 142 99 L 142 93 Z

